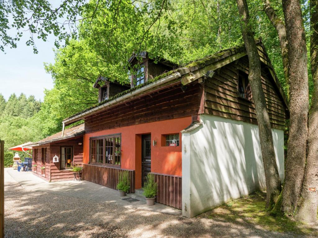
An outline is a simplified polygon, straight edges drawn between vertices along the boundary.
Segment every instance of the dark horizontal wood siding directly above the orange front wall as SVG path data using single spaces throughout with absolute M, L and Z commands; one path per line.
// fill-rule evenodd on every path
M 199 114 L 203 87 L 199 83 L 187 85 L 185 92 L 181 83 L 166 86 L 98 112 L 85 118 L 85 132 L 113 129 L 123 126 L 156 122 Z

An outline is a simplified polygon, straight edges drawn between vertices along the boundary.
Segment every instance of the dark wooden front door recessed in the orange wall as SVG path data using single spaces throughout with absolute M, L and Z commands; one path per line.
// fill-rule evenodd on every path
M 142 186 L 151 171 L 151 135 L 142 135 Z

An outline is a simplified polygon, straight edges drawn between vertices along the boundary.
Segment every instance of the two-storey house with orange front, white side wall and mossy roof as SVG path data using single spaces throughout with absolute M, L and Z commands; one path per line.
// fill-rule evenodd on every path
M 288 105 L 260 40 L 257 47 L 283 181 Z M 180 68 L 165 61 L 156 64 L 146 52 L 133 55 L 129 63 L 138 64 L 130 89 L 107 97 L 100 90 L 99 104 L 63 121 L 85 121 L 85 180 L 116 189 L 119 172 L 128 170 L 130 192 L 135 192 L 144 176 L 153 173 L 156 202 L 182 209 L 187 217 L 266 188 L 244 46 Z M 110 91 L 112 85 L 107 85 Z M 47 143 L 53 145 L 57 143 Z M 56 152 L 46 153 L 52 159 Z

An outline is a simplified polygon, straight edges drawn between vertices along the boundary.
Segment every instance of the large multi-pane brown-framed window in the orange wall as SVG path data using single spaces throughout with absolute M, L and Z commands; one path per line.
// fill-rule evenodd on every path
M 121 135 L 90 138 L 90 162 L 105 165 L 121 165 Z

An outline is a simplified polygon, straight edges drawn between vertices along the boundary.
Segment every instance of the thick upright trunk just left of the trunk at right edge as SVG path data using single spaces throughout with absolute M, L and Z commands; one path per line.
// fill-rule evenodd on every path
M 293 215 L 300 198 L 307 155 L 307 49 L 299 0 L 283 0 L 283 10 L 288 41 L 290 127 L 282 208 Z

